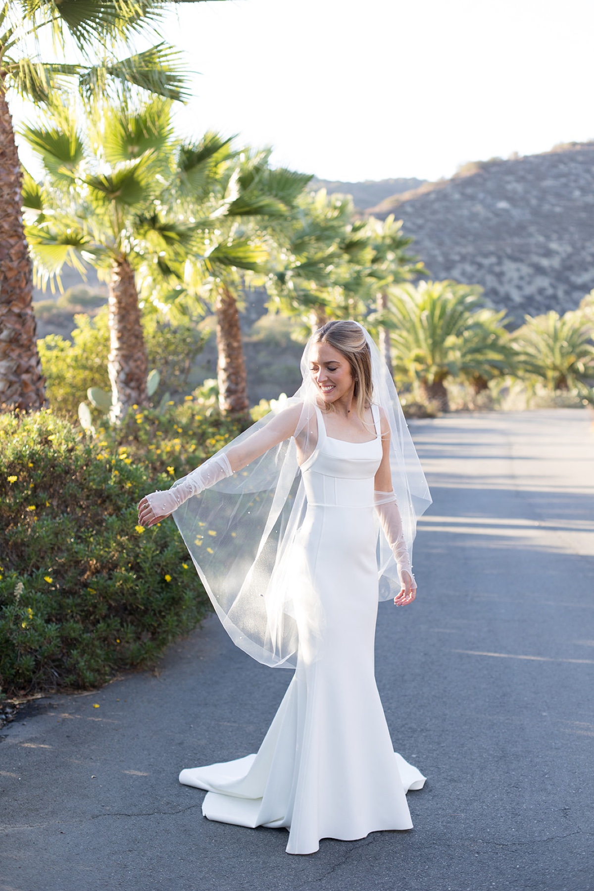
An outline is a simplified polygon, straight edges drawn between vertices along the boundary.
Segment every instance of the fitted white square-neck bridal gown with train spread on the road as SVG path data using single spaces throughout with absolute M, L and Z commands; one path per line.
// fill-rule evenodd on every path
M 208 790 L 208 819 L 286 827 L 289 854 L 311 854 L 321 838 L 411 829 L 405 792 L 425 782 L 394 751 L 374 676 L 378 408 L 376 438 L 364 443 L 327 436 L 316 411 L 318 443 L 301 466 L 307 509 L 293 559 L 305 565 L 322 621 L 311 620 L 311 596 L 296 610 L 297 668 L 258 753 L 180 773 L 182 783 Z

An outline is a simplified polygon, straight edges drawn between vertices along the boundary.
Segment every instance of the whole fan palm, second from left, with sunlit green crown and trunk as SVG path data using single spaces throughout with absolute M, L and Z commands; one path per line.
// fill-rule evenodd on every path
M 39 282 L 59 282 L 64 263 L 84 274 L 83 260 L 109 282 L 112 421 L 148 402 L 134 266 L 157 247 L 151 214 L 173 163 L 169 106 L 157 98 L 135 110 L 103 103 L 84 132 L 56 101 L 52 119 L 23 128 L 46 171 L 43 185 L 26 176 L 23 189 Z M 192 230 L 172 222 L 159 234 L 179 250 L 190 244 Z

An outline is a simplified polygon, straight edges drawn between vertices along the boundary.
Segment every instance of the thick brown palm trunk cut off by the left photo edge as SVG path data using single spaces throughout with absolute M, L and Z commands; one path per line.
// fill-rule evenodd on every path
M 0 407 L 4 410 L 31 410 L 45 404 L 21 192 L 19 154 L 0 83 Z

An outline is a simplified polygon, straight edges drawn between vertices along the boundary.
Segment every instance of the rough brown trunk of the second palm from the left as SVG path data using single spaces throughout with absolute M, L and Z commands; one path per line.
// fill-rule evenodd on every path
M 110 420 L 119 423 L 133 405 L 149 404 L 146 390 L 148 361 L 142 332 L 134 270 L 126 257 L 120 257 L 111 271 L 110 355 L 107 360 L 111 381 Z

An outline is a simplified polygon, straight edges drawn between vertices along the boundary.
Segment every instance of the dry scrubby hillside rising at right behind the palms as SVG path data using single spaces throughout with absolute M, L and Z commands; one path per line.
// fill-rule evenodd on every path
M 594 142 L 469 164 L 366 212 L 402 218 L 433 278 L 482 285 L 517 322 L 594 288 Z

